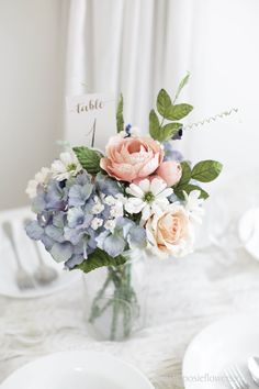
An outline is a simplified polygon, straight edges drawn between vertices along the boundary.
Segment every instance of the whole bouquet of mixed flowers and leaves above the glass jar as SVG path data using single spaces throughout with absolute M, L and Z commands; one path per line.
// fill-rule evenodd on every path
M 195 223 L 209 197 L 200 182 L 214 180 L 222 165 L 202 160 L 192 166 L 174 149 L 184 131 L 180 121 L 193 109 L 177 103 L 187 81 L 188 76 L 173 100 L 159 91 L 149 135 L 124 125 L 121 97 L 117 134 L 104 154 L 74 147 L 29 182 L 36 220 L 27 224 L 27 235 L 42 241 L 56 262 L 89 273 L 122 266 L 133 249 L 157 257 L 193 251 Z

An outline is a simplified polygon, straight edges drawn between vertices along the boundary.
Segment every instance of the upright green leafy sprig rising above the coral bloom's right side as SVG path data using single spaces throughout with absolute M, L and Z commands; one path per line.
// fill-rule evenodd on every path
M 179 120 L 185 118 L 193 110 L 193 107 L 187 103 L 176 104 L 188 80 L 189 74 L 179 84 L 173 101 L 165 89 L 159 91 L 156 104 L 158 113 L 155 109 L 149 113 L 149 133 L 154 140 L 159 142 L 170 140 L 183 126 Z

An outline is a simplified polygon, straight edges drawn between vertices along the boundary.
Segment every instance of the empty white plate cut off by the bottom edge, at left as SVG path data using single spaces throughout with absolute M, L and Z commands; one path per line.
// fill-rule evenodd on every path
M 66 352 L 14 371 L 1 389 L 154 389 L 135 367 L 108 354 Z

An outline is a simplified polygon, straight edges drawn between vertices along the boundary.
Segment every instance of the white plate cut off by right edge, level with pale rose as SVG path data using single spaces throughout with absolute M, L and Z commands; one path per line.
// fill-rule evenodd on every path
M 239 237 L 246 251 L 259 260 L 259 208 L 245 212 L 239 222 Z

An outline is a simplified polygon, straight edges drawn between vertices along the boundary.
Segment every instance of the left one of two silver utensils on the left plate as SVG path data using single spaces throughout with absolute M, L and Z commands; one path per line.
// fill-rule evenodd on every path
M 21 290 L 33 289 L 35 287 L 34 282 L 33 282 L 33 278 L 24 269 L 24 267 L 22 266 L 22 263 L 20 260 L 18 251 L 16 251 L 16 245 L 15 245 L 15 242 L 13 240 L 11 223 L 10 222 L 4 222 L 2 224 L 2 227 L 3 227 L 3 231 L 4 231 L 5 235 L 8 236 L 9 241 L 10 241 L 10 243 L 11 243 L 11 246 L 12 246 L 12 249 L 13 249 L 13 253 L 14 253 L 14 257 L 15 257 L 15 260 L 16 260 L 16 266 L 18 266 L 16 274 L 15 274 L 16 286 Z

